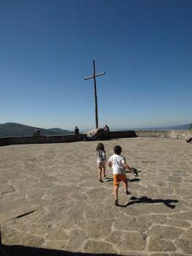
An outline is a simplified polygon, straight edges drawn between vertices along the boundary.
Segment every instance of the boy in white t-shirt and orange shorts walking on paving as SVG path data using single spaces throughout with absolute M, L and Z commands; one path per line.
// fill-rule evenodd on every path
M 124 156 L 121 156 L 122 147 L 119 145 L 114 147 L 114 155 L 112 155 L 108 160 L 108 166 L 113 169 L 114 176 L 114 205 L 118 206 L 118 189 L 119 189 L 119 181 L 123 182 L 125 187 L 125 194 L 128 195 L 130 192 L 128 191 L 128 180 L 126 176 L 126 169 L 131 169 L 128 164 L 126 164 L 126 160 Z

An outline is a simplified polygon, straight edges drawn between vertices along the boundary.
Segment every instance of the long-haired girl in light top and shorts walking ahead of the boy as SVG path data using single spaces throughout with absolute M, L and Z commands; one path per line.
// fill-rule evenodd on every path
M 99 181 L 103 182 L 101 178 L 102 170 L 103 170 L 103 176 L 106 177 L 106 150 L 104 148 L 103 143 L 99 143 L 97 145 L 96 152 L 97 152 L 97 167 L 98 167 Z

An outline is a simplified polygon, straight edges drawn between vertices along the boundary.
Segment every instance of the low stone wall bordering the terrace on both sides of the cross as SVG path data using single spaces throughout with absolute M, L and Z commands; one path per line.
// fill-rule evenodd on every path
M 18 144 L 38 144 L 38 143 L 64 143 L 80 142 L 84 140 L 86 134 L 79 135 L 58 135 L 58 136 L 22 136 L 0 138 L 0 146 Z M 131 137 L 155 137 L 188 139 L 192 137 L 190 130 L 154 130 L 154 131 L 111 131 L 110 138 L 131 138 Z

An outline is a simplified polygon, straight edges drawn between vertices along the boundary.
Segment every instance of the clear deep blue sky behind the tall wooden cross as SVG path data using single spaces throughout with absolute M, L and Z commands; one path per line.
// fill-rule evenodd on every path
M 0 123 L 192 122 L 191 0 L 0 0 Z

